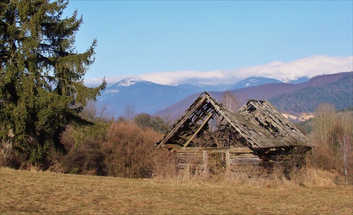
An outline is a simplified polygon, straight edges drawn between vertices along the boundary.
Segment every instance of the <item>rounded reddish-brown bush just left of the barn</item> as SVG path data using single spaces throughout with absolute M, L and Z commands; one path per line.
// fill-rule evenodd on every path
M 142 130 L 135 123 L 112 123 L 102 142 L 107 176 L 150 178 L 155 156 L 153 144 L 159 139 L 158 133 Z

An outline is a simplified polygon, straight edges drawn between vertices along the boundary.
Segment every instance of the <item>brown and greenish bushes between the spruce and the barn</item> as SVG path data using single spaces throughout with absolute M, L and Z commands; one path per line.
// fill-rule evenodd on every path
M 90 133 L 89 133 L 90 134 Z M 133 122 L 111 123 L 97 135 L 68 128 L 63 137 L 68 154 L 61 157 L 61 166 L 50 167 L 66 173 L 124 178 L 151 178 L 167 176 L 171 162 L 169 152 L 153 147 L 161 137 L 152 129 L 138 128 Z M 171 174 L 173 169 L 171 169 Z

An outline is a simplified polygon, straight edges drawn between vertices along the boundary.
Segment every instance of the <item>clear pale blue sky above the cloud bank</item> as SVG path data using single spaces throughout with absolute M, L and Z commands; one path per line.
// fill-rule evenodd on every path
M 313 56 L 326 59 L 316 63 L 333 65 L 333 59 L 346 59 L 345 67 L 333 68 L 336 73 L 352 61 L 347 59 L 353 55 L 352 1 L 71 0 L 66 15 L 75 9 L 84 22 L 76 37 L 78 51 L 98 40 L 96 61 L 85 76 L 90 84 L 103 76 L 113 83 L 178 72 L 245 76 L 244 68 L 251 76 L 256 66 L 299 59 L 315 63 Z

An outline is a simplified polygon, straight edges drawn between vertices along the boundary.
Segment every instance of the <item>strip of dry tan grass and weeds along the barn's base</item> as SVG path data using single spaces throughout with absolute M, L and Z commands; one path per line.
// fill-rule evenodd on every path
M 197 159 L 196 159 L 197 161 Z M 212 161 L 210 161 L 212 162 Z M 191 162 L 192 163 L 192 162 Z M 217 161 L 219 163 L 219 161 Z M 175 163 L 176 164 L 176 163 Z M 264 169 L 260 166 L 244 165 L 237 166 L 234 171 L 222 171 L 222 167 L 216 172 L 207 173 L 200 171 L 196 164 L 190 164 L 189 168 L 183 171 L 174 170 L 175 164 L 169 163 L 167 167 L 168 174 L 163 177 L 155 177 L 157 180 L 168 180 L 169 183 L 186 183 L 186 184 L 227 184 L 227 185 L 256 185 L 256 186 L 282 186 L 282 185 L 297 185 L 302 187 L 313 186 L 333 186 L 338 183 L 339 174 L 335 171 L 325 171 L 319 168 L 290 168 L 287 170 L 288 164 L 285 162 L 275 163 L 270 169 Z M 174 165 L 174 166 L 173 166 Z M 212 167 L 213 164 L 210 164 Z M 198 171 L 199 170 L 199 171 Z M 158 175 L 160 176 L 160 175 Z M 342 177 L 341 177 L 342 178 Z

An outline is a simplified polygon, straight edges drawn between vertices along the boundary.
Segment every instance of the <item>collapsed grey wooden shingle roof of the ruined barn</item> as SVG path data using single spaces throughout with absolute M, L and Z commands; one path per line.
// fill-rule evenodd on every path
M 220 116 L 245 140 L 248 147 L 315 146 L 270 102 L 251 99 L 234 113 L 213 99 L 208 92 L 203 92 L 155 145 L 170 149 L 190 147 L 195 137 L 208 130 L 208 123 L 215 116 Z

